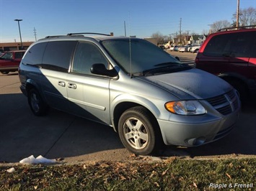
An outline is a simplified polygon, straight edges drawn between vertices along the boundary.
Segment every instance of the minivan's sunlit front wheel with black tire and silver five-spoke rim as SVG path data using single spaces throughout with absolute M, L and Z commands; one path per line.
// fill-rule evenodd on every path
M 141 106 L 130 108 L 120 116 L 118 134 L 125 148 L 137 155 L 158 152 L 163 144 L 156 119 Z

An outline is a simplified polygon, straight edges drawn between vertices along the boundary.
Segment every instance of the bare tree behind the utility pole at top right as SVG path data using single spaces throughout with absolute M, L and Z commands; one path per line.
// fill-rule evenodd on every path
M 234 19 L 234 24 L 237 24 L 235 21 L 237 19 L 236 14 L 234 14 L 232 19 Z M 253 7 L 239 10 L 239 26 L 249 25 L 256 25 L 256 9 Z

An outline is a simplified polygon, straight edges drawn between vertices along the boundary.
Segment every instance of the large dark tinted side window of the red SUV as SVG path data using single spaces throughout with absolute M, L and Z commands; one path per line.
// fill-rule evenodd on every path
M 212 57 L 249 57 L 252 32 L 219 34 L 210 39 L 203 55 Z

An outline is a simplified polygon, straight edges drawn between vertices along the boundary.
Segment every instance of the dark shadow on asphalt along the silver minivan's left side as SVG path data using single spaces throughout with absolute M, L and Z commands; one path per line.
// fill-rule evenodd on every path
M 110 126 L 50 109 L 37 117 L 25 95 L 0 95 L 0 162 L 19 162 L 34 155 L 76 157 L 108 149 L 123 149 Z

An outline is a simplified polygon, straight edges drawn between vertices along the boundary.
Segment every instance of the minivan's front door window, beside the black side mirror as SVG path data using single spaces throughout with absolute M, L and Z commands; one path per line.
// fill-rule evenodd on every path
M 92 65 L 100 63 L 108 67 L 107 59 L 100 49 L 92 43 L 80 42 L 76 48 L 72 72 L 93 75 Z

